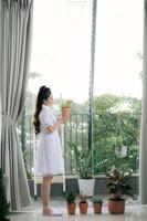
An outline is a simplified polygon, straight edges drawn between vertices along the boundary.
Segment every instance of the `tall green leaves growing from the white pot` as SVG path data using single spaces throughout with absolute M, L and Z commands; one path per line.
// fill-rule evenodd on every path
M 76 167 L 78 170 L 80 178 L 91 179 L 92 178 L 92 150 L 85 145 L 85 147 L 78 146 L 77 144 L 70 144 L 71 149 L 74 151 L 76 160 Z

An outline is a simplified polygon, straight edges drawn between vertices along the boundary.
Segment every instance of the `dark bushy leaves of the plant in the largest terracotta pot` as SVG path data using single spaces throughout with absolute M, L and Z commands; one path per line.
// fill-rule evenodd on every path
M 125 194 L 133 197 L 133 187 L 129 181 L 130 172 L 124 172 L 113 168 L 106 176 L 109 180 L 107 183 L 108 193 L 113 194 L 111 200 L 122 200 Z

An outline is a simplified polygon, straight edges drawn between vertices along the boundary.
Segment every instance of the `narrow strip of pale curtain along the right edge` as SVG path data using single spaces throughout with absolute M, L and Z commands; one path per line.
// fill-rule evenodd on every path
M 143 103 L 140 128 L 140 180 L 141 204 L 147 204 L 147 0 L 144 1 L 144 63 L 143 63 Z

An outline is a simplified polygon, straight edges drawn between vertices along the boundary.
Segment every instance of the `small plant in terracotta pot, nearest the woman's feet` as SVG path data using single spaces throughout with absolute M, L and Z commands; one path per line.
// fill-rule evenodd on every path
M 76 208 L 75 193 L 73 191 L 66 191 L 65 194 L 64 194 L 64 198 L 65 198 L 66 203 L 67 203 L 67 213 L 69 214 L 75 214 L 75 208 Z

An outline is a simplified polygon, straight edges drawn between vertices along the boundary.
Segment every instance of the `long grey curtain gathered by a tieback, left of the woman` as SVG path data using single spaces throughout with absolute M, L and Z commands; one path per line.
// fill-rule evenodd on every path
M 0 0 L 0 167 L 9 178 L 12 210 L 30 204 L 30 191 L 17 133 L 29 73 L 33 0 Z

